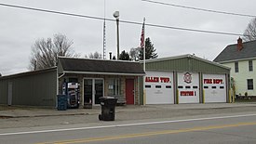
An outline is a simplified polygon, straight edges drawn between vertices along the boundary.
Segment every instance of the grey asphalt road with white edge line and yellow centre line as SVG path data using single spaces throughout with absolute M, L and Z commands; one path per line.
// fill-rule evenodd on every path
M 208 144 L 256 143 L 256 112 L 97 124 L 8 129 L 1 143 Z

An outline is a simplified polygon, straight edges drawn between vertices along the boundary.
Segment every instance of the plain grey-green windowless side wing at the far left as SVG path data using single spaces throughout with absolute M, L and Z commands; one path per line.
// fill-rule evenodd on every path
M 0 104 L 54 107 L 57 95 L 55 68 L 0 77 Z

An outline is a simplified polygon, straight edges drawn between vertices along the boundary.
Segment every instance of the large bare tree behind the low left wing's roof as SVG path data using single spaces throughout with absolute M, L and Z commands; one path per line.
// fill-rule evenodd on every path
M 29 69 L 41 70 L 56 66 L 58 56 L 78 57 L 79 55 L 74 54 L 73 44 L 73 41 L 61 33 L 54 34 L 53 39 L 36 40 L 32 46 Z

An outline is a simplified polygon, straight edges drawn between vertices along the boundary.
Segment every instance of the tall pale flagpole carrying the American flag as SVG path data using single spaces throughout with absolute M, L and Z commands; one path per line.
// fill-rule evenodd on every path
M 143 70 L 146 72 L 145 18 L 143 19 Z M 145 75 L 143 76 L 143 105 L 146 105 Z

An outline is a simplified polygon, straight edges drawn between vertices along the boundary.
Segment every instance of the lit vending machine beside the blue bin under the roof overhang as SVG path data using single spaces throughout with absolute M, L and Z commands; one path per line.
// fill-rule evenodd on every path
M 78 83 L 64 83 L 62 93 L 67 95 L 68 108 L 79 108 L 80 85 Z

